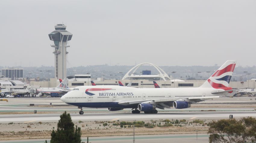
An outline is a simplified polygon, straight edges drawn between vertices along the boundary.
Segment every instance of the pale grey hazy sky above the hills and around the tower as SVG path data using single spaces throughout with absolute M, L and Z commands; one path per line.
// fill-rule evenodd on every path
M 255 0 L 1 0 L 0 66 L 54 66 L 62 22 L 68 67 L 256 65 Z

